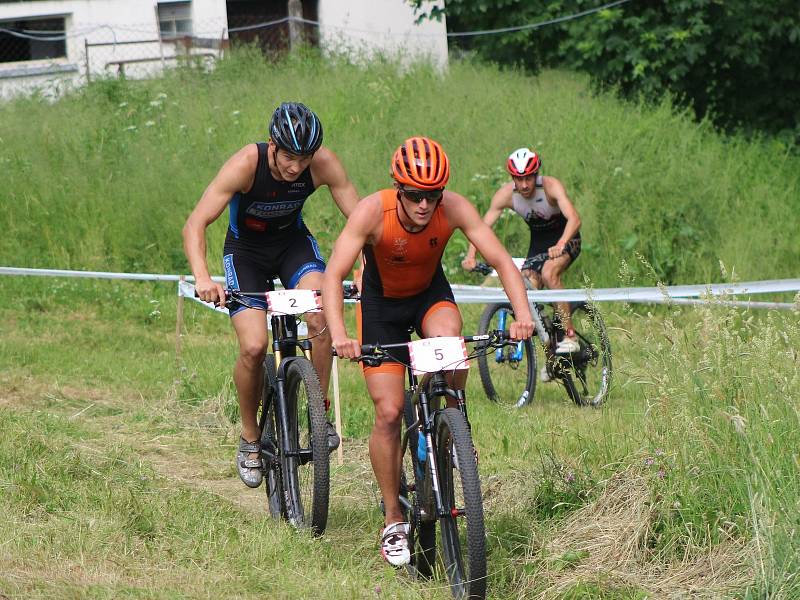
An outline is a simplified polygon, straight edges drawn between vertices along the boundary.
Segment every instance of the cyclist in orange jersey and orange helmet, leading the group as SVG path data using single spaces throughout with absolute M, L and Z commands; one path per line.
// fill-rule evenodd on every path
M 475 207 L 463 196 L 444 189 L 450 167 L 441 146 L 429 138 L 409 138 L 394 153 L 391 173 L 394 188 L 375 192 L 359 202 L 336 240 L 325 271 L 323 306 L 337 354 L 355 358 L 361 343 L 409 340 L 410 327 L 421 337 L 461 335 L 461 314 L 441 264 L 455 229 L 461 229 L 497 270 L 517 316 L 511 336 L 529 338 L 533 322 L 520 273 Z M 342 281 L 362 251 L 362 313 L 357 341 L 345 329 Z M 381 554 L 390 564 L 399 566 L 410 560 L 408 523 L 398 502 L 405 381 L 402 363 L 408 362 L 408 352 L 392 356 L 395 361 L 364 367 L 364 376 L 375 404 L 370 460 L 386 512 Z

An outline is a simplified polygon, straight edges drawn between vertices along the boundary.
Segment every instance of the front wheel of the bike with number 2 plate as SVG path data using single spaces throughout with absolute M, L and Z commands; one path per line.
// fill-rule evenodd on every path
M 321 535 L 328 522 L 330 463 L 324 397 L 308 359 L 294 358 L 288 364 L 284 395 L 289 430 L 282 431 L 280 420 L 276 424 L 279 440 L 286 439 L 290 448 L 281 456 L 286 518 Z

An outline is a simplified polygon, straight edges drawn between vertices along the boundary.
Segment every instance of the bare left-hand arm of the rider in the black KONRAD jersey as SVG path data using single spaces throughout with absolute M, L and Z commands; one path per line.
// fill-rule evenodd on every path
M 231 156 L 203 192 L 183 226 L 183 249 L 195 278 L 195 290 L 205 302 L 222 302 L 224 288 L 211 280 L 206 260 L 206 228 L 217 220 L 236 192 L 253 186 L 258 147 L 248 144 Z

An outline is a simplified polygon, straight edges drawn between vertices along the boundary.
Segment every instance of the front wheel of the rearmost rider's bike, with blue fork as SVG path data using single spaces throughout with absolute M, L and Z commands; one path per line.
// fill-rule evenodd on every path
M 510 304 L 489 304 L 481 314 L 478 333 L 500 330 L 508 334 L 513 321 L 514 311 Z M 536 353 L 531 340 L 497 350 L 481 348 L 478 371 L 483 390 L 490 400 L 517 408 L 533 400 L 536 391 Z

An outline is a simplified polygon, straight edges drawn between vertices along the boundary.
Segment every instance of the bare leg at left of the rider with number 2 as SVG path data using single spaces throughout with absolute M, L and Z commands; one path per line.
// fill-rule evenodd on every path
M 269 341 L 267 318 L 263 310 L 246 308 L 233 315 L 231 322 L 239 338 L 239 357 L 233 368 L 233 383 L 239 396 L 242 437 L 252 442 L 261 437 L 256 415 L 264 381 L 264 354 Z M 258 454 L 251 454 L 250 458 L 258 458 Z

